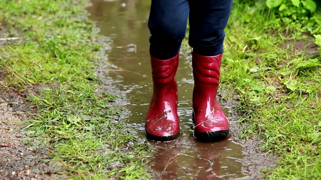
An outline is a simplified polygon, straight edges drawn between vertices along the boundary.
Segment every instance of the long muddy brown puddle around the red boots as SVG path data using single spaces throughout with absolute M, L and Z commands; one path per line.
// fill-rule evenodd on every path
M 99 78 L 108 92 L 117 92 L 127 101 L 128 124 L 142 138 L 152 94 L 149 3 L 150 0 L 92 0 L 87 8 L 106 44 L 107 59 L 97 69 Z M 176 80 L 182 134 L 170 142 L 149 140 L 158 152 L 150 164 L 155 179 L 259 179 L 260 169 L 274 165 L 274 158 L 257 151 L 257 141 L 238 141 L 233 101 L 221 102 L 230 120 L 230 137 L 211 143 L 195 140 L 191 129 L 193 76 L 189 56 L 181 55 Z

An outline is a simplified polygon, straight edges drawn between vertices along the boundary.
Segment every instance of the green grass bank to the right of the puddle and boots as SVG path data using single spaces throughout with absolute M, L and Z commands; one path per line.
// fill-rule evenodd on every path
M 267 179 L 321 177 L 321 59 L 299 23 L 235 3 L 227 27 L 221 91 L 238 94 L 243 137 L 279 155 Z

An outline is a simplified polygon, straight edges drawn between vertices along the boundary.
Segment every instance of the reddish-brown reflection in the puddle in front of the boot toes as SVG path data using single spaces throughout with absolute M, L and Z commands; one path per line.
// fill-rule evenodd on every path
M 152 169 L 165 179 L 219 179 L 245 176 L 241 173 L 241 146 L 229 140 L 199 142 L 185 134 L 173 142 L 151 143 L 159 152 L 155 154 Z M 238 151 L 239 153 L 233 153 Z

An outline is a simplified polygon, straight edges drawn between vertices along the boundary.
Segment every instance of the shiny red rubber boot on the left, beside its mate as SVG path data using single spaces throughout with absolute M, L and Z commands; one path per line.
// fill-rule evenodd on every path
M 174 79 L 179 54 L 167 60 L 151 56 L 153 94 L 146 117 L 148 138 L 159 141 L 175 139 L 180 133 L 177 114 L 177 83 Z

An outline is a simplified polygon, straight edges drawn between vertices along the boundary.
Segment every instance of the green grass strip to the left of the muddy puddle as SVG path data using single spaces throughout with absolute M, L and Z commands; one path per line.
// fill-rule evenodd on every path
M 49 146 L 70 178 L 147 178 L 147 152 L 122 120 L 115 96 L 100 92 L 93 68 L 100 45 L 84 9 L 89 1 L 4 0 L 2 90 L 27 92 L 25 134 Z M 117 117 L 117 118 L 116 118 Z

